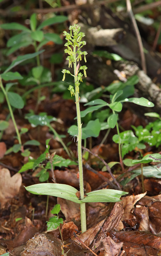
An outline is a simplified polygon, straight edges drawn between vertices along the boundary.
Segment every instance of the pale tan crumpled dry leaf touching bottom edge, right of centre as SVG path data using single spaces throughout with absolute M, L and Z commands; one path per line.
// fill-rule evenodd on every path
M 123 246 L 123 242 L 116 243 L 110 236 L 101 238 L 104 246 L 105 256 L 117 256 L 120 254 L 120 250 Z

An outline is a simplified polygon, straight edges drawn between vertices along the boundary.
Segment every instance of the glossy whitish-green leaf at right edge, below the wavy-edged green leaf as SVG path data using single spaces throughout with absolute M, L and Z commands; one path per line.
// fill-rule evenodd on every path
M 133 170 L 133 173 L 140 175 L 141 174 L 141 168 L 137 170 Z M 161 172 L 157 167 L 153 166 L 143 166 L 143 175 L 145 177 L 155 177 L 155 178 L 161 178 Z

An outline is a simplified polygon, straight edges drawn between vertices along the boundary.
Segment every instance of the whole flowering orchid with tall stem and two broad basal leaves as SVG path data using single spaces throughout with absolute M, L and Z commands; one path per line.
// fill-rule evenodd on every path
M 113 189 L 103 189 L 92 191 L 87 194 L 84 194 L 84 184 L 83 184 L 83 166 L 82 166 L 82 123 L 81 123 L 81 115 L 79 108 L 79 85 L 82 81 L 83 74 L 79 71 L 84 70 L 84 75 L 86 76 L 86 66 L 79 67 L 79 61 L 82 59 L 82 55 L 84 55 L 84 59 L 86 61 L 87 52 L 80 51 L 81 47 L 86 44 L 85 41 L 81 41 L 82 37 L 85 36 L 84 33 L 79 32 L 81 27 L 74 24 L 69 27 L 70 33 L 64 31 L 65 39 L 67 43 L 65 46 L 67 49 L 64 50 L 69 56 L 67 60 L 69 61 L 69 67 L 74 66 L 74 74 L 72 74 L 69 70 L 63 69 L 63 80 L 65 79 L 65 74 L 69 73 L 74 77 L 75 89 L 73 86 L 69 86 L 69 90 L 71 92 L 71 96 L 75 96 L 76 110 L 77 110 L 77 124 L 78 124 L 78 133 L 76 134 L 77 143 L 78 143 L 78 167 L 79 167 L 79 185 L 80 191 L 77 191 L 74 187 L 64 184 L 36 184 L 26 187 L 26 190 L 33 194 L 37 195 L 52 195 L 58 196 L 61 198 L 65 198 L 80 204 L 81 210 L 81 228 L 82 233 L 86 231 L 86 211 L 85 211 L 85 203 L 86 202 L 116 202 L 119 201 L 121 195 L 127 194 L 127 192 Z

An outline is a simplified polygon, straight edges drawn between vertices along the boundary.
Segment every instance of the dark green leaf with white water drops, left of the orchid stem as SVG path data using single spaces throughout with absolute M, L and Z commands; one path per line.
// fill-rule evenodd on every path
M 40 115 L 26 115 L 26 119 L 29 120 L 31 124 L 34 125 L 47 125 L 50 124 L 52 121 L 56 121 L 57 119 L 53 116 L 47 116 L 46 113 L 41 113 Z

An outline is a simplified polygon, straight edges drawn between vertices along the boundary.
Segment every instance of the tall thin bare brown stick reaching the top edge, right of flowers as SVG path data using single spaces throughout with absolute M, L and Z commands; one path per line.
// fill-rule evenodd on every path
M 141 56 L 141 66 L 142 66 L 142 69 L 144 70 L 144 72 L 146 74 L 147 73 L 146 72 L 146 61 L 145 61 L 143 43 L 142 43 L 142 40 L 141 40 L 141 36 L 140 36 L 140 33 L 139 33 L 139 29 L 138 29 L 135 17 L 134 17 L 133 12 L 132 12 L 130 0 L 126 0 L 126 6 L 127 6 L 127 12 L 128 12 L 128 14 L 131 18 L 131 21 L 132 21 L 132 24 L 133 24 L 133 27 L 135 29 L 135 33 L 136 33 L 136 36 L 137 36 L 137 39 L 138 39 L 138 44 L 139 44 L 139 49 L 140 49 L 140 56 Z

